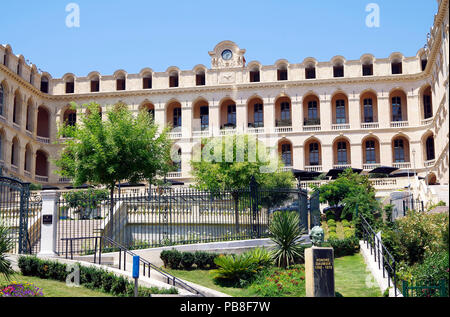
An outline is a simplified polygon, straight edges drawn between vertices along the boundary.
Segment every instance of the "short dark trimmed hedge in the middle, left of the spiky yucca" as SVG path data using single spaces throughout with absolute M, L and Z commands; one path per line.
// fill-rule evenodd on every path
M 164 263 L 164 267 L 177 270 L 180 268 L 191 269 L 194 265 L 201 270 L 215 269 L 217 266 L 214 259 L 219 254 L 208 253 L 204 251 L 196 252 L 180 252 L 178 250 L 164 250 L 160 254 L 160 258 Z

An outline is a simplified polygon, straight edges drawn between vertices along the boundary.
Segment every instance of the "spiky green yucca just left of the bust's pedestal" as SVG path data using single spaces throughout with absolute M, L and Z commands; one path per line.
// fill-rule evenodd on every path
M 275 243 L 273 258 L 279 267 L 294 264 L 296 258 L 303 258 L 300 238 L 305 230 L 300 228 L 300 218 L 291 211 L 276 212 L 269 227 L 271 240 Z

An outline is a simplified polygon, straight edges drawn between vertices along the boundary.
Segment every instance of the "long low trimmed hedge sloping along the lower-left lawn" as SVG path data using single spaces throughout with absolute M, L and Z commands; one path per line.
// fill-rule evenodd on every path
M 41 279 L 50 279 L 65 282 L 67 276 L 67 264 L 38 259 L 35 256 L 21 256 L 18 262 L 20 271 L 24 276 L 36 276 Z M 134 283 L 123 276 L 117 276 L 111 272 L 96 267 L 81 266 L 80 284 L 95 290 L 113 294 L 119 297 L 133 297 Z M 157 287 L 139 287 L 139 297 L 150 297 L 152 294 L 178 294 L 178 290 L 160 289 Z

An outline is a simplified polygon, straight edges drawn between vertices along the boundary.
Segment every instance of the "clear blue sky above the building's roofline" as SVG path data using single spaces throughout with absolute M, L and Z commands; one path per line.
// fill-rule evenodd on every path
M 80 28 L 66 27 L 70 2 L 80 7 Z M 371 2 L 380 7 L 379 28 L 365 25 Z M 264 65 L 414 56 L 436 12 L 430 0 L 17 0 L 2 4 L 0 43 L 54 77 L 210 67 L 208 51 L 222 40 Z

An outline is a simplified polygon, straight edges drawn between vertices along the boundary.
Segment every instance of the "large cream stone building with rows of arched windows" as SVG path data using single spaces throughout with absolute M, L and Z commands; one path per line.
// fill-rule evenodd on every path
M 121 102 L 174 127 L 182 162 L 170 178 L 189 180 L 202 137 L 248 133 L 277 148 L 287 167 L 394 166 L 448 184 L 449 1 L 438 4 L 425 47 L 411 57 L 261 65 L 224 41 L 209 52 L 210 68 L 53 78 L 0 45 L 0 164 L 25 181 L 67 186 L 51 159 L 61 150 L 58 125 L 74 124 L 85 111 L 69 103 L 95 101 L 104 112 Z

